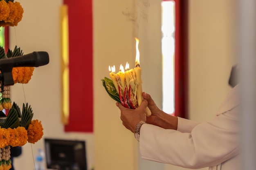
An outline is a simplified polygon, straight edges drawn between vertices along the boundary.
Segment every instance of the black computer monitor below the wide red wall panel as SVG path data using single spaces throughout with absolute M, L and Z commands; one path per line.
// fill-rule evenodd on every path
M 85 141 L 45 139 L 47 169 L 87 170 Z

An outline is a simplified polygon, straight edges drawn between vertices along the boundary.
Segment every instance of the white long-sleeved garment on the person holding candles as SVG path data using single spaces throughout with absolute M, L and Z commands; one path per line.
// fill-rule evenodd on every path
M 143 124 L 139 142 L 142 159 L 191 169 L 240 170 L 238 86 L 211 121 L 198 123 L 178 117 L 177 130 Z

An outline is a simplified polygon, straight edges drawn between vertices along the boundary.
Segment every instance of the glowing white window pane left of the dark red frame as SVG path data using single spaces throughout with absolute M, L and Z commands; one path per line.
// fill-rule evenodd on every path
M 175 2 L 164 0 L 162 5 L 162 96 L 163 111 L 175 111 Z

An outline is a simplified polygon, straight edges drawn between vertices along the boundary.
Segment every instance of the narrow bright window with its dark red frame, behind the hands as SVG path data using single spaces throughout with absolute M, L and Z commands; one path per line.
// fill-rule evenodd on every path
M 162 3 L 163 110 L 187 117 L 188 0 Z

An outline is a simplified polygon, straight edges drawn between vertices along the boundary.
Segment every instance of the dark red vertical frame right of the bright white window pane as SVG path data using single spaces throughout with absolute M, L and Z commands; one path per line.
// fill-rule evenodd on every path
M 188 118 L 188 0 L 175 1 L 175 111 Z

